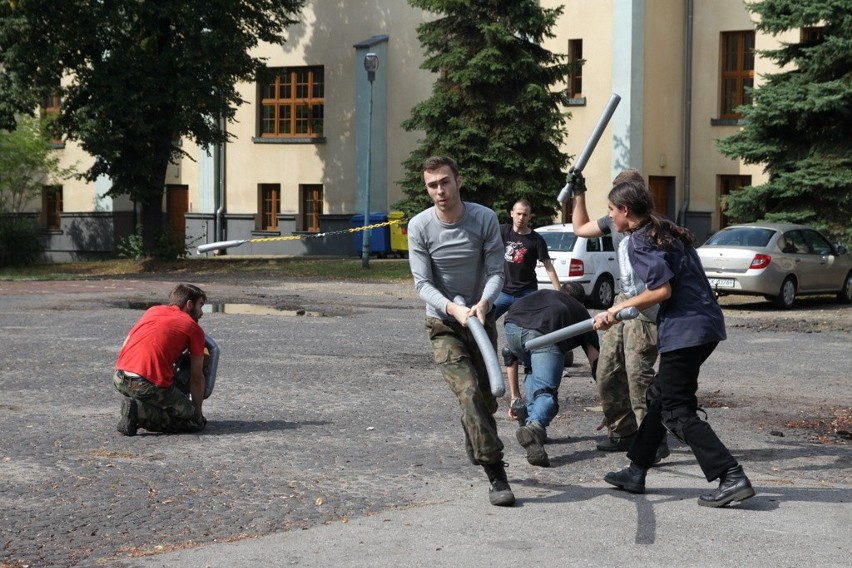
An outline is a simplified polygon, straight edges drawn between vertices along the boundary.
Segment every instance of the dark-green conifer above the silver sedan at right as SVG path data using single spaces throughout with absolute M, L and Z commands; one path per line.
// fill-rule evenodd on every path
M 747 3 L 758 30 L 802 28 L 802 40 L 760 55 L 785 70 L 768 74 L 740 109 L 743 129 L 722 153 L 763 164 L 768 181 L 726 198 L 741 221 L 792 221 L 852 238 L 852 10 L 849 0 Z M 792 67 L 792 68 L 791 68 Z

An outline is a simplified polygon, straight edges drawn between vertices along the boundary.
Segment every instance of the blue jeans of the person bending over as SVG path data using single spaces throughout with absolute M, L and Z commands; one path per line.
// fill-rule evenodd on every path
M 527 424 L 538 422 L 546 428 L 559 412 L 559 385 L 565 369 L 565 353 L 555 343 L 524 351 L 524 343 L 542 335 L 534 329 L 509 322 L 504 327 L 506 343 L 520 361 L 532 369 L 524 382 L 527 397 Z

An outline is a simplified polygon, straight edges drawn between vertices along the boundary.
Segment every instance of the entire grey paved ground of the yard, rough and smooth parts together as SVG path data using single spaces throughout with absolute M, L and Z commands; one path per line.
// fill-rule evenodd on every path
M 699 507 L 713 485 L 676 441 L 646 494 L 604 483 L 627 461 L 595 450 L 601 413 L 578 351 L 553 467 L 526 463 L 501 400 L 518 503 L 498 508 L 465 457 L 413 290 L 193 282 L 222 348 L 207 430 L 132 438 L 115 430 L 112 365 L 140 308 L 176 281 L 0 282 L 0 567 L 849 565 L 852 308 L 810 333 L 726 310 L 699 397 L 754 498 Z

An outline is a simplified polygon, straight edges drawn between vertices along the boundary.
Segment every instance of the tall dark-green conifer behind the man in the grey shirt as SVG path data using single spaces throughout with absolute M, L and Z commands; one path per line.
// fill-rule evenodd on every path
M 562 9 L 536 0 L 409 0 L 440 14 L 417 31 L 425 49 L 421 68 L 439 74 L 432 96 L 403 122 L 424 138 L 404 162 L 406 198 L 413 214 L 431 205 L 422 164 L 451 156 L 465 180 L 464 199 L 492 207 L 506 220 L 525 197 L 535 220 L 550 222 L 565 183 L 568 157 L 560 151 L 568 115 L 560 110 L 571 70 L 566 56 L 541 46 Z

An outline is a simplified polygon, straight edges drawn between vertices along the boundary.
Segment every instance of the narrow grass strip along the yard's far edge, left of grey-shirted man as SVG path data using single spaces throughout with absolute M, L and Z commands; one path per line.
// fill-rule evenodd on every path
M 273 278 L 323 280 L 407 281 L 411 280 L 405 259 L 370 259 L 369 268 L 360 258 L 187 258 L 169 262 L 156 260 L 103 260 L 44 263 L 27 267 L 0 268 L 5 280 L 87 280 L 146 274 L 252 274 Z

